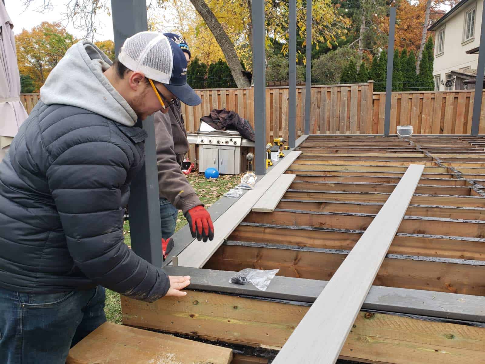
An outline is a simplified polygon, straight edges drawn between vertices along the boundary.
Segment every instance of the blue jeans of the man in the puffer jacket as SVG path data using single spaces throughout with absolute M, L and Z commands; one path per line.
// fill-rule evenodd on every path
M 0 288 L 0 363 L 65 364 L 69 348 L 106 321 L 105 290 L 33 294 Z

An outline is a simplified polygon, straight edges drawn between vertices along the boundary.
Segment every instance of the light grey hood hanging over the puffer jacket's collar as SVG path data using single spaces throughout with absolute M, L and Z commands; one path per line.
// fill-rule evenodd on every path
M 92 42 L 80 40 L 50 72 L 40 88 L 41 101 L 81 107 L 120 124 L 135 125 L 135 112 L 103 75 L 112 64 Z

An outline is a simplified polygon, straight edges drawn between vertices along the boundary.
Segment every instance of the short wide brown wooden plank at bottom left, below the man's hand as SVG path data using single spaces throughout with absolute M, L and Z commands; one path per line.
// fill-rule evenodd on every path
M 70 351 L 66 364 L 229 364 L 232 349 L 105 322 Z

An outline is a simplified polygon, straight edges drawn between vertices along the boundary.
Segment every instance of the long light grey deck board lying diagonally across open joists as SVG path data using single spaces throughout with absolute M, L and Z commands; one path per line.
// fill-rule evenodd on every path
M 423 169 L 423 165 L 408 167 L 379 214 L 282 347 L 274 364 L 337 361 Z

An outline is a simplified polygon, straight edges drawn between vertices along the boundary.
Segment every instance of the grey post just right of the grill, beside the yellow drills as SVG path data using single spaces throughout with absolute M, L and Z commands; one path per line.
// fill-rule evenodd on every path
M 266 173 L 265 34 L 264 1 L 253 1 L 254 148 L 256 153 L 256 174 Z

